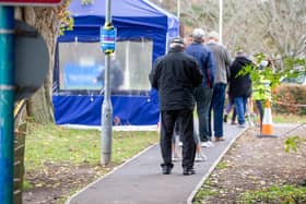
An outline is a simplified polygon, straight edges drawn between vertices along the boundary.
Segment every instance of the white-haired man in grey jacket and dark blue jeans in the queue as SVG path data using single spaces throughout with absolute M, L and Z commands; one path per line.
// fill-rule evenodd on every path
M 215 141 L 219 142 L 225 140 L 223 135 L 223 109 L 232 61 L 228 51 L 223 45 L 219 44 L 219 34 L 216 32 L 209 33 L 207 46 L 213 52 L 213 58 L 215 60 L 211 109 L 213 110 L 214 137 Z

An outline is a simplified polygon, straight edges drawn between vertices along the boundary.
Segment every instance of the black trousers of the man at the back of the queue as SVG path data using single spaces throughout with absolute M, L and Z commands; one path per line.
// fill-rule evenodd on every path
M 161 151 L 164 163 L 162 166 L 173 167 L 172 164 L 172 141 L 174 127 L 177 122 L 180 129 L 183 142 L 183 168 L 193 167 L 196 156 L 196 143 L 193 141 L 193 116 L 192 110 L 165 110 L 161 111 Z

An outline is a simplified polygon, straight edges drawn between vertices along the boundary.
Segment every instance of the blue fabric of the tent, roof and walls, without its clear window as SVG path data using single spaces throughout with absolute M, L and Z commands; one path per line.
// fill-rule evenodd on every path
M 105 0 L 93 0 L 93 3 L 85 5 L 81 3 L 81 0 L 73 0 L 68 11 L 74 19 L 73 29 L 64 31 L 64 35 L 59 36 L 59 45 L 80 41 L 95 43 L 87 45 L 97 46 L 101 38 L 101 26 L 105 22 Z M 153 45 L 152 62 L 166 52 L 168 40 L 179 35 L 178 19 L 148 0 L 111 0 L 111 20 L 117 29 L 116 40 L 141 43 L 144 39 L 152 40 L 153 44 L 150 44 Z M 101 124 L 101 111 L 96 111 L 102 107 L 101 93 L 94 97 L 90 94 L 79 95 L 72 91 L 59 89 L 61 69 L 64 69 L 59 63 L 60 50 L 61 47 L 58 46 L 54 77 L 56 122 L 58 124 Z M 131 50 L 130 52 L 138 55 L 138 51 Z M 82 53 L 78 52 L 78 55 Z M 148 74 L 145 74 L 145 79 L 148 79 Z M 145 91 L 144 94 L 129 92 L 111 96 L 111 100 L 114 116 L 120 118 L 122 124 L 156 124 L 160 120 L 158 98 L 154 89 L 150 93 Z

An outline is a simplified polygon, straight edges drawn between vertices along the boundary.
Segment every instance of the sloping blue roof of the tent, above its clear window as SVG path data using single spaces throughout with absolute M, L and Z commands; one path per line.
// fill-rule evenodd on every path
M 105 19 L 105 0 L 95 0 L 82 4 L 81 0 L 70 3 L 69 12 L 74 17 L 74 26 L 101 26 Z M 148 0 L 113 0 L 111 17 L 114 24 L 121 26 L 139 25 L 169 29 L 178 24 L 178 20 L 167 11 Z

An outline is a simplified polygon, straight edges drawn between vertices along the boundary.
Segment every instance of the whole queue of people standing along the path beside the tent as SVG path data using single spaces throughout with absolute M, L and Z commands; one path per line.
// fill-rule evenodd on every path
M 219 34 L 205 35 L 202 28 L 195 28 L 185 41 L 174 38 L 168 53 L 156 60 L 149 79 L 160 97 L 161 167 L 164 175 L 169 175 L 174 167 L 175 127 L 183 144 L 185 176 L 196 173 L 196 155 L 198 159 L 199 156 L 205 159 L 201 147 L 213 147 L 212 142 L 226 140 L 223 131 L 223 121 L 227 122 L 224 118 L 226 89 L 231 103 L 226 118 L 234 106 L 238 125 L 246 127 L 247 100 L 252 92 L 250 75 L 239 73 L 246 65 L 254 65 L 246 52 L 237 51 L 232 61 L 229 52 L 219 43 Z M 259 109 L 260 101 L 258 99 Z M 195 107 L 198 125 L 193 125 Z

